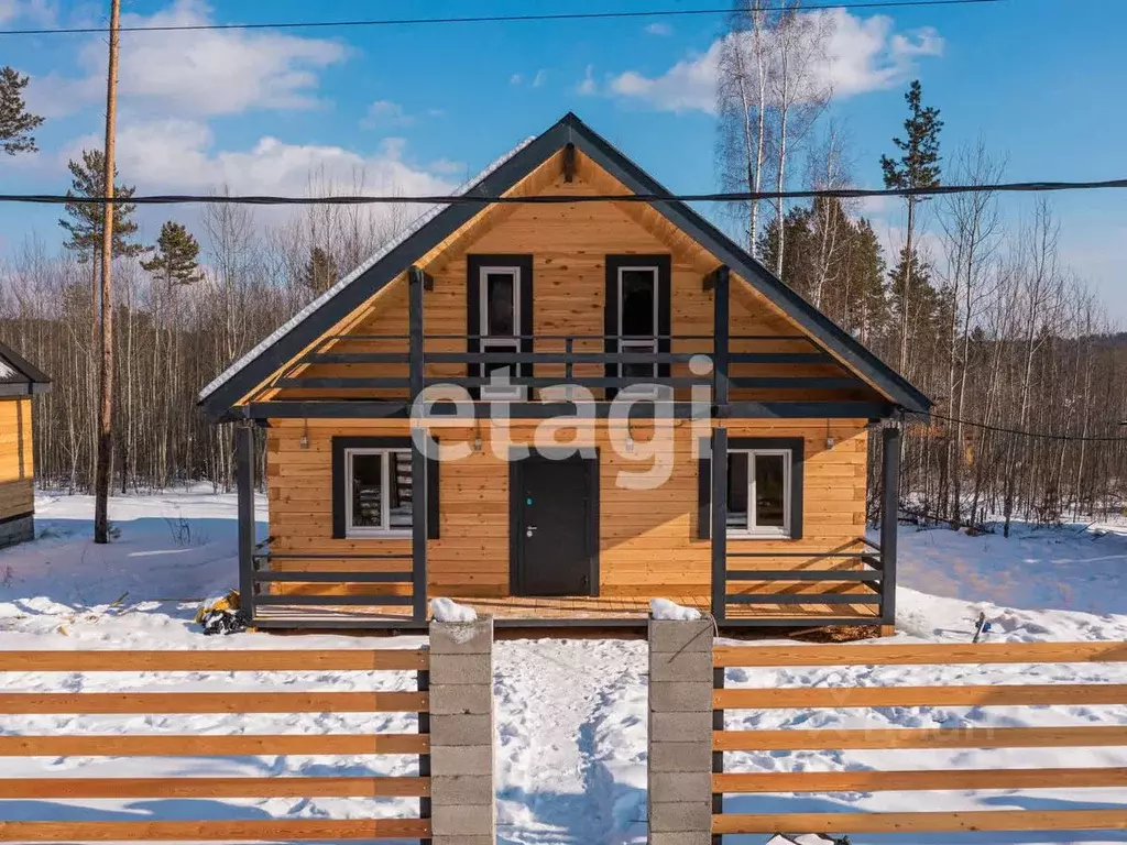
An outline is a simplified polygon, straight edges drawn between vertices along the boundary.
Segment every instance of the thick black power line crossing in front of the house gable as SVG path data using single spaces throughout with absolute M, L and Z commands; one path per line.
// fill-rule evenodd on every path
M 568 203 L 742 203 L 763 199 L 857 199 L 861 197 L 941 196 L 975 193 L 1028 193 L 1127 188 L 1127 179 L 1102 181 L 1015 181 L 993 185 L 937 185 L 930 188 L 817 188 L 811 190 L 737 190 L 713 194 L 540 194 L 535 196 L 488 196 L 482 194 L 427 196 L 273 196 L 227 194 L 156 194 L 148 196 L 68 196 L 61 194 L 0 194 L 0 203 L 36 205 L 559 205 Z

